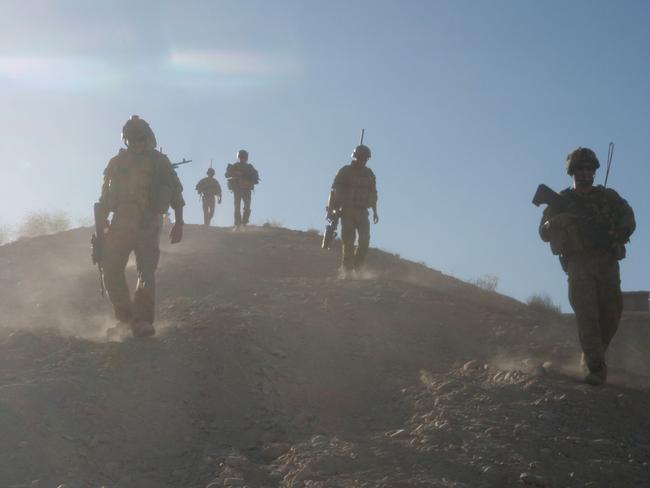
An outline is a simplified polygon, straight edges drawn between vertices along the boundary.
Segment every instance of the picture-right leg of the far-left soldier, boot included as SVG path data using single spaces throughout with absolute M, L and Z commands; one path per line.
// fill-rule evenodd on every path
M 160 228 L 157 226 L 138 232 L 135 245 L 135 262 L 138 272 L 138 284 L 133 295 L 133 322 L 143 329 L 145 324 L 151 326 L 155 315 L 156 269 L 160 259 Z M 153 328 L 134 330 L 138 334 L 150 335 Z

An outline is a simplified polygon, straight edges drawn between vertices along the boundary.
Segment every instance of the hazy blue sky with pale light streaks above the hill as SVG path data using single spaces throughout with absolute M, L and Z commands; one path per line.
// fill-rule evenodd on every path
M 650 1 L 0 2 L 0 224 L 88 219 L 132 114 L 194 185 L 246 148 L 254 223 L 323 227 L 360 129 L 378 178 L 372 245 L 519 299 L 566 279 L 537 235 L 538 183 L 593 148 L 633 206 L 623 288 L 650 288 Z M 602 182 L 604 171 L 597 179 Z M 232 222 L 229 194 L 217 225 Z

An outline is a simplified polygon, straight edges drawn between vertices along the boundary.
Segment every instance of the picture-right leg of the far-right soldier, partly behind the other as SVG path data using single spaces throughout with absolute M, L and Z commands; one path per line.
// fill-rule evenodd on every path
M 605 351 L 618 330 L 623 313 L 623 294 L 618 261 L 608 263 L 599 276 L 598 303 L 600 334 Z

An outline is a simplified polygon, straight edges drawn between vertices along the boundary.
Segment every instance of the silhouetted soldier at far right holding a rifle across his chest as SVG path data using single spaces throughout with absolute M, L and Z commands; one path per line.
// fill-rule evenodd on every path
M 618 193 L 594 186 L 599 167 L 591 149 L 569 153 L 566 168 L 573 187 L 560 192 L 566 205 L 549 205 L 539 227 L 569 276 L 569 302 L 590 385 L 607 381 L 605 352 L 623 311 L 618 261 L 625 257 L 625 243 L 636 227 L 632 208 Z

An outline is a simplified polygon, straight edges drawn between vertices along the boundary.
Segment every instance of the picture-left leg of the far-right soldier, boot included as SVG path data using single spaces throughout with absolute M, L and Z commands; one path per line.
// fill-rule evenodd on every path
M 590 269 L 569 263 L 569 302 L 575 312 L 578 337 L 589 371 L 598 371 L 605 364 L 598 320 L 598 286 Z

